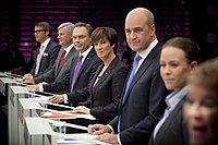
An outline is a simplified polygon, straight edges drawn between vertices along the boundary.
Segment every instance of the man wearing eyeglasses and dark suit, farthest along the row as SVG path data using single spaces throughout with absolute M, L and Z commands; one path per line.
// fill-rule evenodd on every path
M 40 43 L 36 52 L 36 61 L 29 73 L 23 76 L 23 81 L 46 73 L 50 70 L 56 61 L 60 46 L 50 38 L 51 27 L 48 22 L 38 22 L 34 27 L 36 41 Z

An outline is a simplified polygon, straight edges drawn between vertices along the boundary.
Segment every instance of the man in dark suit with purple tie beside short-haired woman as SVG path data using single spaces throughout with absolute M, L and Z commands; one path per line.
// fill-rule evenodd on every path
M 71 64 L 70 75 L 66 75 L 61 82 L 50 85 L 44 85 L 44 90 L 49 93 L 57 93 L 63 89 L 69 89 L 69 93 L 63 95 L 55 95 L 51 98 L 52 102 L 69 102 L 71 98 L 77 98 L 81 101 L 87 99 L 89 83 L 102 61 L 97 57 L 95 49 L 92 46 L 90 34 L 93 27 L 86 23 L 76 23 L 73 29 L 74 47 L 78 51 L 76 58 L 73 58 Z M 77 65 L 78 56 L 82 58 L 82 67 L 78 71 L 77 77 L 73 83 L 73 75 Z M 74 85 L 73 85 L 74 84 Z M 73 86 L 72 86 L 73 85 Z M 70 101 L 71 104 L 72 101 Z M 76 106 L 71 104 L 71 106 Z

